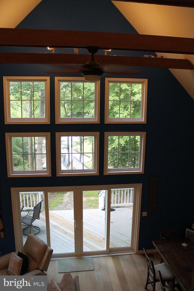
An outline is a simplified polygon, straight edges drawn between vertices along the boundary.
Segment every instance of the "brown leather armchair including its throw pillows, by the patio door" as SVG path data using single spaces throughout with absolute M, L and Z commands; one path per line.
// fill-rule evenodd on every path
M 30 234 L 20 254 L 13 252 L 0 257 L 0 275 L 47 275 L 46 271 L 49 267 L 52 252 L 53 250 L 44 241 Z M 18 274 L 16 269 L 21 262 L 21 258 L 20 271 L 24 259 L 27 259 L 27 266 L 23 269 L 23 273 Z

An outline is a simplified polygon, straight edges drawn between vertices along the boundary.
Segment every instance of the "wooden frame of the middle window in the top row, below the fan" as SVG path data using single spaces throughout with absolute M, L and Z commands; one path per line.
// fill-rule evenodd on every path
M 55 77 L 55 123 L 100 123 L 100 81 L 95 82 L 94 118 L 62 118 L 60 116 L 60 82 L 86 82 L 84 77 Z

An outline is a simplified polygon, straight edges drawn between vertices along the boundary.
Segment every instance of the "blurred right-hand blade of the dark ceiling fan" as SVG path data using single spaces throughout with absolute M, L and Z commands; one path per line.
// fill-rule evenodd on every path
M 125 65 L 104 65 L 103 71 L 106 74 L 119 74 L 119 75 L 137 75 L 143 71 L 140 69 L 132 69 L 130 66 Z

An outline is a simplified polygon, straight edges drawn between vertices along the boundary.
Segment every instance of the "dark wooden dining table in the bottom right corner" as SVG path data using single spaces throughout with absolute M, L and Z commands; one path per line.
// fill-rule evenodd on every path
M 182 246 L 186 243 L 187 246 Z M 186 237 L 153 241 L 162 259 L 169 265 L 184 291 L 194 291 L 194 244 Z M 189 269 L 188 266 L 191 268 Z

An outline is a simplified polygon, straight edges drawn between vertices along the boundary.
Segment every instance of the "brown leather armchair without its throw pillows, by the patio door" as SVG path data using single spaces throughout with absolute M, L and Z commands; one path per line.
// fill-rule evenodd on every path
M 30 234 L 22 248 L 21 253 L 28 257 L 28 268 L 24 275 L 47 275 L 53 249 L 37 236 Z M 15 252 L 17 255 L 17 252 Z M 9 261 L 12 253 L 0 257 L 0 275 L 9 275 L 7 273 Z

